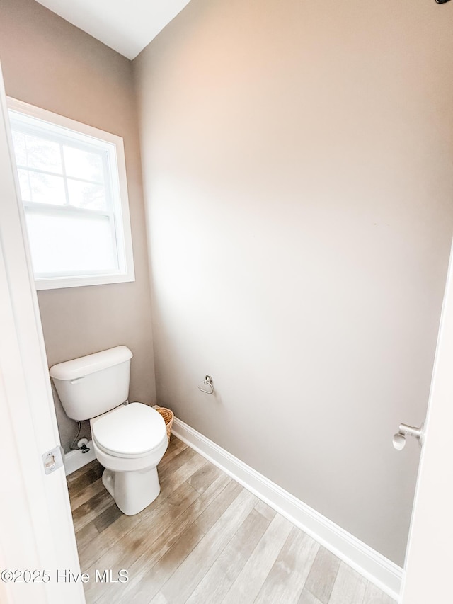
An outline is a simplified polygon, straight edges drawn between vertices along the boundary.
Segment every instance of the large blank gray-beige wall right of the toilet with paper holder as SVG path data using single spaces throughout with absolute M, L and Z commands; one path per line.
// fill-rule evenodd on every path
M 134 60 L 159 402 L 403 564 L 453 224 L 453 13 L 192 0 Z M 197 390 L 214 378 L 216 396 Z

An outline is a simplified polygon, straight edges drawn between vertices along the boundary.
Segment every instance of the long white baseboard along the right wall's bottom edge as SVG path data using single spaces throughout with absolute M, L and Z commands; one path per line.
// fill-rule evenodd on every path
M 365 579 L 374 583 L 394 600 L 398 600 L 403 577 L 403 569 L 400 566 L 350 535 L 349 532 L 178 418 L 173 422 L 173 434 L 321 543 Z

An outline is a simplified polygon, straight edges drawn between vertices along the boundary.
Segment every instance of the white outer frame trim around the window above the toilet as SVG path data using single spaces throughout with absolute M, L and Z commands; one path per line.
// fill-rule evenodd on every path
M 115 224 L 115 241 L 118 258 L 117 270 L 108 273 L 84 273 L 73 275 L 53 275 L 40 276 L 35 274 L 35 287 L 37 290 L 53 290 L 62 287 L 81 287 L 84 285 L 104 285 L 109 283 L 126 283 L 135 280 L 134 256 L 132 251 L 132 234 L 130 229 L 129 199 L 127 195 L 127 178 L 125 151 L 122 137 L 113 135 L 110 132 L 99 130 L 93 126 L 88 126 L 76 120 L 65 118 L 57 113 L 52 113 L 45 109 L 35 107 L 29 103 L 18 101 L 16 98 L 7 97 L 8 110 L 28 115 L 31 118 L 46 122 L 46 127 L 52 132 L 52 126 L 64 127 L 71 131 L 71 137 L 76 140 L 77 134 L 84 137 L 91 137 L 93 143 L 105 147 L 108 150 L 108 168 L 110 172 L 110 192 L 113 202 L 113 220 Z M 82 137 L 81 137 L 82 138 Z M 17 177 L 16 177 L 17 178 Z M 16 181 L 18 182 L 18 180 Z M 20 193 L 20 188 L 18 187 Z M 27 205 L 24 203 L 23 205 Z M 38 207 L 38 204 L 30 204 Z M 55 206 L 55 212 L 59 211 L 59 206 Z M 51 208 L 54 210 L 54 207 Z M 25 208 L 23 208 L 25 212 Z M 49 207 L 43 204 L 42 210 L 45 212 Z M 71 208 L 64 207 L 64 211 L 77 212 Z M 108 213 L 108 212 L 105 212 Z M 112 220 L 112 224 L 113 224 Z

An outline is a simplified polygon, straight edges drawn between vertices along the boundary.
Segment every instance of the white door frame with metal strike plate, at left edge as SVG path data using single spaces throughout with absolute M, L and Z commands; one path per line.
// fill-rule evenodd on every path
M 83 604 L 64 467 L 41 459 L 59 435 L 8 137 L 0 69 L 0 602 Z

